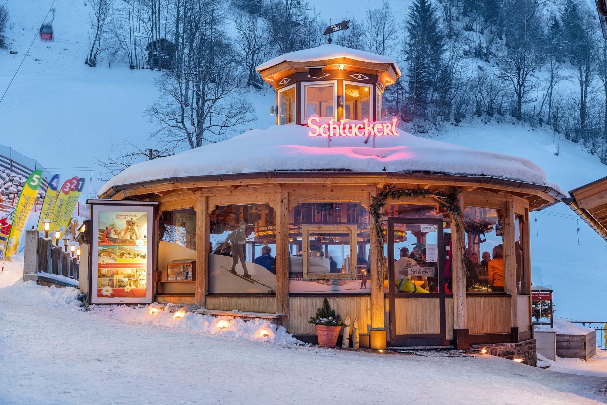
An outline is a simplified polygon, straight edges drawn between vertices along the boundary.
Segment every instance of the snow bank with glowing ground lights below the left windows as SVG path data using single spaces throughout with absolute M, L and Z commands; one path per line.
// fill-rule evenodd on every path
M 175 306 L 180 307 L 180 305 Z M 89 308 L 97 316 L 120 321 L 191 330 L 229 339 L 245 339 L 280 345 L 303 344 L 287 333 L 285 328 L 266 319 L 244 321 L 242 318 L 233 318 L 232 316 L 215 317 L 185 311 L 170 312 L 168 311 L 169 307 L 163 310 L 159 309 L 160 307 L 156 304 L 145 307 L 141 305 L 137 307 L 91 305 Z M 220 328 L 220 326 L 224 328 Z

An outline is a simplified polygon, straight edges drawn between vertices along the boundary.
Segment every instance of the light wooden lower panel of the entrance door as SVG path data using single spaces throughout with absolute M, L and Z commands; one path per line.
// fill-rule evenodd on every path
M 396 335 L 441 333 L 439 298 L 396 298 Z

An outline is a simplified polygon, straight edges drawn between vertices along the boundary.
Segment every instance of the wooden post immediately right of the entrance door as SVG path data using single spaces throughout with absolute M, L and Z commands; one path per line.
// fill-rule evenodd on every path
M 458 197 L 462 213 L 465 206 L 463 197 Z M 456 221 L 459 222 L 459 231 Z M 466 269 L 462 255 L 464 254 L 464 222 L 453 217 L 451 222 L 451 284 L 453 289 L 453 337 L 456 349 L 469 349 L 468 342 L 468 309 L 466 301 Z

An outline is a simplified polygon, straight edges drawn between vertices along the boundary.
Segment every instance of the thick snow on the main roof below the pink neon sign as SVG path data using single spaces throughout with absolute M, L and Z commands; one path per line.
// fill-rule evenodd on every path
M 350 170 L 356 172 L 433 172 L 486 175 L 537 185 L 546 174 L 531 160 L 416 137 L 377 137 L 376 148 L 364 137 L 310 137 L 308 127 L 274 125 L 253 129 L 219 143 L 130 166 L 100 189 L 172 177 L 271 171 Z M 562 192 L 561 192 L 562 193 Z

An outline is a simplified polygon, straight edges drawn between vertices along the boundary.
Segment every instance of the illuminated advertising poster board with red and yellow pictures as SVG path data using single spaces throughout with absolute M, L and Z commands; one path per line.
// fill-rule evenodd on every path
M 112 209 L 110 211 L 109 209 Z M 93 304 L 151 301 L 151 245 L 148 221 L 152 208 L 95 207 Z M 93 231 L 94 234 L 95 231 Z

